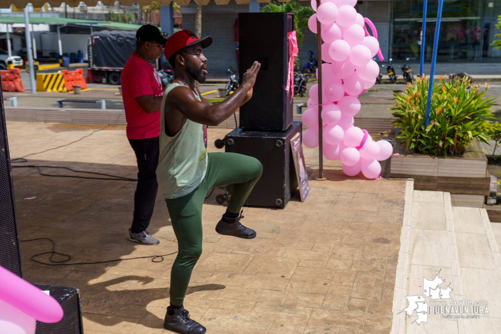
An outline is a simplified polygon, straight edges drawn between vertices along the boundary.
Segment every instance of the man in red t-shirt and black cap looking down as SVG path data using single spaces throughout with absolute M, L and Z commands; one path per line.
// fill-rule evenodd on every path
M 146 228 L 155 206 L 158 183 L 158 135 L 163 90 L 160 77 L 150 61 L 158 59 L 166 40 L 158 28 L 145 25 L 136 32 L 136 47 L 123 67 L 123 107 L 127 120 L 127 138 L 137 160 L 137 186 L 129 239 L 143 245 L 157 245 L 158 239 Z

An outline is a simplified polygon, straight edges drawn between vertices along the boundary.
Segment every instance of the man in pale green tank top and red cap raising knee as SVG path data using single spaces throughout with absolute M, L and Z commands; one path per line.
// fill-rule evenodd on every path
M 226 212 L 216 232 L 252 239 L 256 232 L 243 226 L 240 210 L 261 177 L 261 163 L 236 153 L 207 153 L 207 126 L 217 126 L 250 100 L 260 64 L 254 62 L 242 85 L 225 101 L 204 99 L 195 82 L 204 83 L 207 58 L 204 49 L 211 37 L 198 39 L 182 30 L 165 44 L 165 58 L 174 69 L 174 82 L 164 92 L 160 108 L 160 154 L 156 176 L 169 209 L 179 252 L 171 269 L 171 304 L 164 327 L 181 333 L 205 333 L 190 319 L 183 301 L 193 267 L 202 254 L 202 206 L 208 190 L 233 184 Z

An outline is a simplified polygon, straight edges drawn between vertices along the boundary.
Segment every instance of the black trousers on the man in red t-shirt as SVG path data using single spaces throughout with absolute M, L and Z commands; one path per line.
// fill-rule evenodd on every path
M 134 215 L 132 233 L 139 233 L 148 228 L 155 207 L 158 183 L 156 182 L 156 166 L 158 166 L 158 137 L 147 139 L 129 139 L 137 160 L 137 187 L 134 193 Z

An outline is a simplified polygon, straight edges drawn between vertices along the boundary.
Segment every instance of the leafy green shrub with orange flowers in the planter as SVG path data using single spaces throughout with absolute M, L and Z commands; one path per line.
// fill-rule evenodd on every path
M 402 139 L 407 150 L 447 156 L 464 154 L 474 138 L 487 142 L 488 119 L 495 118 L 494 98 L 484 97 L 488 84 L 480 92 L 480 87 L 471 85 L 466 78 L 435 81 L 429 124 L 425 127 L 428 84 L 426 78 L 408 84 L 402 94 L 395 95 L 395 105 L 390 108 L 396 118 L 393 125 L 400 129 L 397 138 Z

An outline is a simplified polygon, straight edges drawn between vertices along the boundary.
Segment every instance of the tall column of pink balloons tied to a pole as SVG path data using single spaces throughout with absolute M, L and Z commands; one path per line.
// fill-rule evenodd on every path
M 373 60 L 384 60 L 379 47 L 376 27 L 357 13 L 355 0 L 323 0 L 311 7 L 316 12 L 308 21 L 309 29 L 317 33 L 320 22 L 322 64 L 321 73 L 321 123 L 323 156 L 328 160 L 341 160 L 348 176 L 362 174 L 375 179 L 380 177 L 379 161 L 390 158 L 392 145 L 385 140 L 373 141 L 366 130 L 354 126 L 360 111 L 358 97 L 376 83 L 379 66 Z M 369 26 L 372 35 L 367 30 Z M 327 52 L 327 55 L 324 53 Z M 308 109 L 302 115 L 308 129 L 303 133 L 303 143 L 314 148 L 319 145 L 318 90 L 310 89 Z

